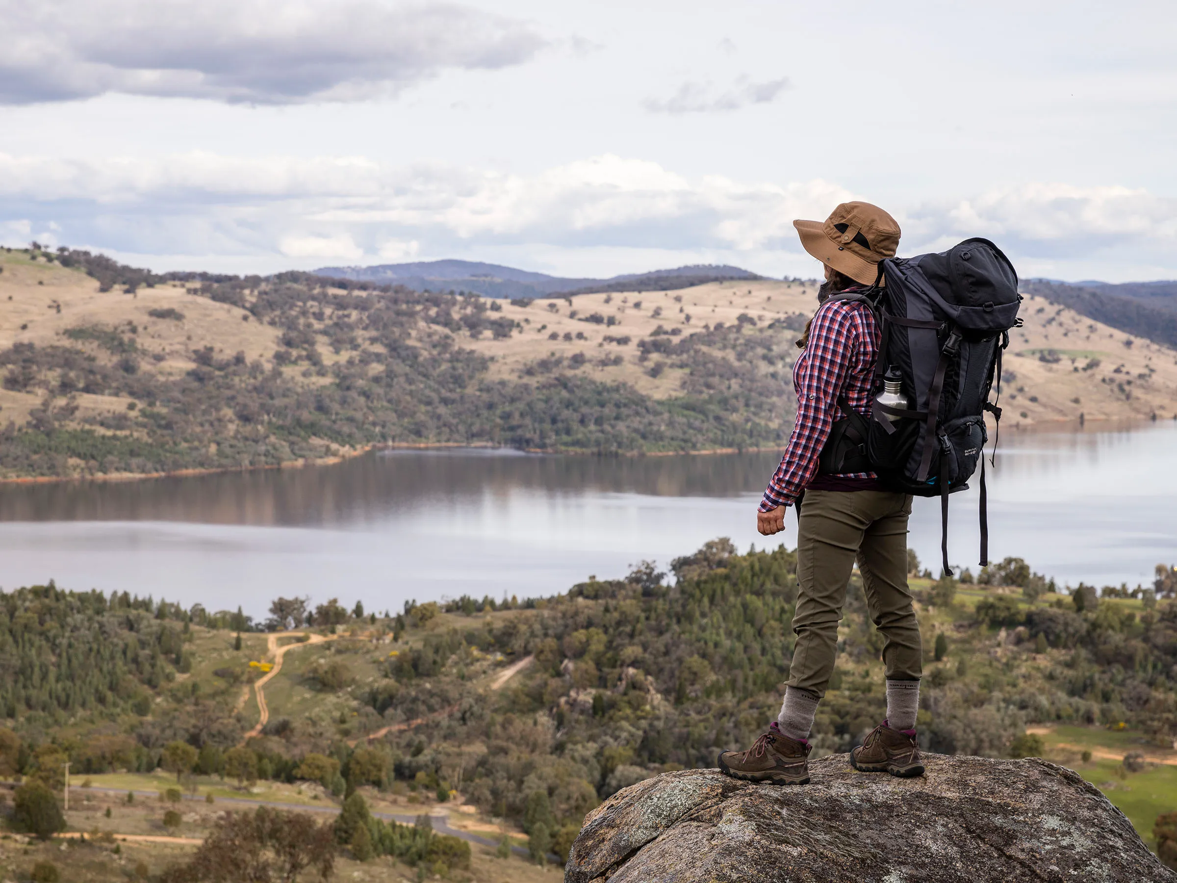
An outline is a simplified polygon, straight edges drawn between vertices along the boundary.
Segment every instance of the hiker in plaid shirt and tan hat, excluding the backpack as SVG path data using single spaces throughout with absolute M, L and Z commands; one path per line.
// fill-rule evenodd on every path
M 774 784 L 810 781 L 809 735 L 833 673 L 838 623 L 855 562 L 871 619 L 883 633 L 886 719 L 851 755 L 863 771 L 918 776 L 916 711 L 923 651 L 907 591 L 907 517 L 912 498 L 884 490 L 870 463 L 840 442 L 843 411 L 871 416 L 879 323 L 866 304 L 832 298 L 866 291 L 880 280 L 879 261 L 895 257 L 899 225 L 878 206 L 844 203 L 825 220 L 796 220 L 802 245 L 825 266 L 820 306 L 797 346 L 793 366 L 797 420 L 789 446 L 757 513 L 765 536 L 785 529 L 798 511 L 797 644 L 780 715 L 746 751 L 719 755 L 734 778 Z M 849 451 L 849 453 L 847 453 Z

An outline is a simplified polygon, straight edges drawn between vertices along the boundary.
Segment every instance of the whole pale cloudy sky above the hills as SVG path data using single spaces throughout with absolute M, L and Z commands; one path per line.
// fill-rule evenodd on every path
M 1177 5 L 0 0 L 0 241 L 157 270 L 467 258 L 1177 278 Z

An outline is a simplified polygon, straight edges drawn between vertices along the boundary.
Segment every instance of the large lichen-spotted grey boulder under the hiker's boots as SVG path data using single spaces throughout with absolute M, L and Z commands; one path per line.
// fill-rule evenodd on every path
M 810 763 L 809 785 L 683 770 L 585 819 L 565 883 L 1168 881 L 1128 818 L 1052 763 L 925 755 L 926 774 Z

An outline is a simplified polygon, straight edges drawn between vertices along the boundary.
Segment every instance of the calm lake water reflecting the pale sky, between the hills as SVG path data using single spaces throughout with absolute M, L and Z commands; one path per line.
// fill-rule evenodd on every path
M 1060 583 L 1151 584 L 1177 560 L 1177 425 L 1002 434 L 991 557 Z M 0 585 L 166 597 L 264 616 L 270 599 L 552 595 L 661 565 L 714 537 L 763 547 L 754 509 L 778 454 L 547 457 L 397 451 L 335 466 L 133 483 L 0 486 Z M 780 539 L 790 547 L 790 514 Z M 939 503 L 911 545 L 933 570 Z M 976 490 L 953 494 L 950 557 L 977 563 Z

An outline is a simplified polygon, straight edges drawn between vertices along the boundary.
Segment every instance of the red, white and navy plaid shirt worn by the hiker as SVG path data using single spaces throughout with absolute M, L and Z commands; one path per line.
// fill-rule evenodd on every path
M 857 291 L 857 288 L 851 288 Z M 810 325 L 809 343 L 793 365 L 797 420 L 780 465 L 769 480 L 760 511 L 790 506 L 817 473 L 818 456 L 839 416 L 838 397 L 871 414 L 871 381 L 879 347 L 879 327 L 865 304 L 827 300 Z M 873 472 L 847 472 L 843 478 L 877 478 Z

